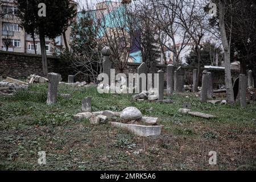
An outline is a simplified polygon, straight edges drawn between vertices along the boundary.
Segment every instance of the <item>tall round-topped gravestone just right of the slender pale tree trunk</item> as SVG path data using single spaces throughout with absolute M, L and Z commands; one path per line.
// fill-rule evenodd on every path
M 240 105 L 242 108 L 246 107 L 246 90 L 247 90 L 247 77 L 243 74 L 239 75 L 240 87 Z

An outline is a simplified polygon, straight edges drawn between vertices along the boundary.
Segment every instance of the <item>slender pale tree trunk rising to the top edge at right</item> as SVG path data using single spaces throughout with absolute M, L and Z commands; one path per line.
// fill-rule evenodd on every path
M 229 104 L 234 104 L 234 92 L 232 88 L 232 77 L 231 77 L 231 65 L 230 65 L 230 45 L 226 36 L 225 29 L 225 3 L 220 1 L 220 34 L 221 42 L 224 47 L 224 60 L 225 60 L 225 85 L 226 85 L 226 97 Z

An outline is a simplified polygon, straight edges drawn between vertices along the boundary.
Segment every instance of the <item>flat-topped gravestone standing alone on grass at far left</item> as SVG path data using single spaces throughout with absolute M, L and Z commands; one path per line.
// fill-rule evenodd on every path
M 58 73 L 48 73 L 48 95 L 47 95 L 47 105 L 55 104 L 57 101 L 57 89 L 61 76 Z

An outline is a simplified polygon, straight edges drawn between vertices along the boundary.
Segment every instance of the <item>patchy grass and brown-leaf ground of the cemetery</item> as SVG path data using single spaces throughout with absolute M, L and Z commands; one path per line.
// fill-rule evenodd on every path
M 221 105 L 200 102 L 193 93 L 165 96 L 163 104 L 133 101 L 131 94 L 99 94 L 94 87 L 59 85 L 57 104 L 48 106 L 47 84 L 0 98 L 0 169 L 31 170 L 192 170 L 255 169 L 256 104 Z M 31 92 L 32 91 L 32 92 Z M 37 93 L 35 93 L 37 92 Z M 135 106 L 158 117 L 159 137 L 137 137 L 110 124 L 77 122 L 81 101 L 92 97 L 92 111 L 122 111 Z M 188 96 L 188 97 L 186 97 Z M 180 114 L 187 102 L 193 111 L 216 115 L 206 119 Z M 46 165 L 38 152 L 46 151 Z M 210 151 L 217 165 L 209 165 Z

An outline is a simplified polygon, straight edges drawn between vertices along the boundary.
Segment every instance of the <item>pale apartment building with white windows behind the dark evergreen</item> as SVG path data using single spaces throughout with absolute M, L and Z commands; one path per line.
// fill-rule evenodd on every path
M 71 1 L 71 3 L 75 2 Z M 3 14 L 0 16 L 0 50 L 41 54 L 39 36 L 35 35 L 34 46 L 31 36 L 26 34 L 24 28 L 19 26 L 20 20 L 16 16 L 18 9 L 15 7 L 13 1 L 3 1 L 0 4 L 0 10 Z M 71 27 L 68 27 L 65 37 L 68 48 L 70 49 Z M 46 38 L 47 55 L 52 55 L 53 52 L 59 52 L 61 48 L 65 48 L 63 35 L 56 37 L 54 40 Z

